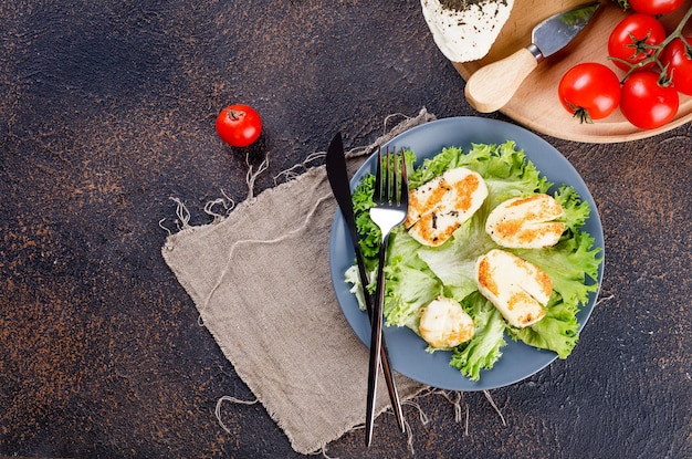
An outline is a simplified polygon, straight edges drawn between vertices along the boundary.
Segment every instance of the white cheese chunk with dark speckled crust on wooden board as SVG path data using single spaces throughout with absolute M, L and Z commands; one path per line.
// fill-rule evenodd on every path
M 514 0 L 421 0 L 432 39 L 452 62 L 487 54 L 510 19 Z

